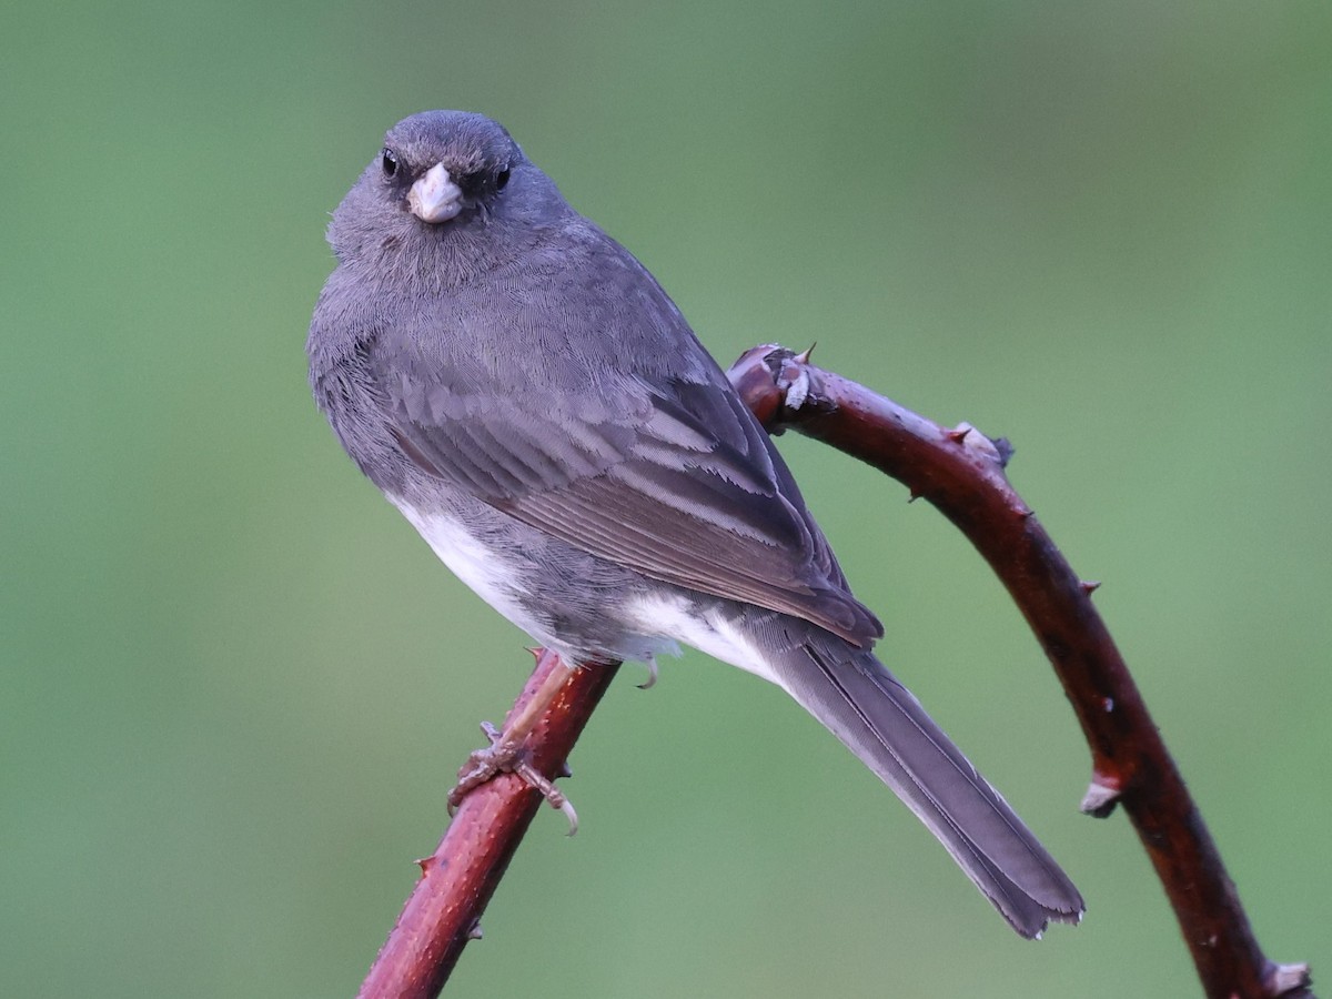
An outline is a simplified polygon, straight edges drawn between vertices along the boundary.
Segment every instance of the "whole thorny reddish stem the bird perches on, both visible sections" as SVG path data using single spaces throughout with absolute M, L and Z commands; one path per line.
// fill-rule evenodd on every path
M 1128 667 L 1079 579 L 1003 474 L 1007 446 L 970 426 L 948 430 L 777 346 L 730 370 L 773 433 L 790 428 L 860 458 L 934 503 L 1008 587 L 1050 657 L 1092 753 L 1083 809 L 1128 813 L 1166 887 L 1199 978 L 1213 999 L 1312 999 L 1305 964 L 1275 964 L 1257 946 L 1203 818 L 1166 750 Z M 542 653 L 517 714 L 553 670 Z M 614 667 L 570 671 L 527 741 L 526 759 L 559 777 Z M 361 999 L 438 995 L 503 876 L 541 797 L 502 774 L 464 799 L 361 987 Z

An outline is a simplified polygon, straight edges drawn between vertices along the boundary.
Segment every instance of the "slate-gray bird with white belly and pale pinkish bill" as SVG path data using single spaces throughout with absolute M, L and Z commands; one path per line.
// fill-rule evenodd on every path
M 329 225 L 306 350 L 361 470 L 569 662 L 678 642 L 777 683 L 1023 936 L 1083 900 L 871 649 L 786 464 L 651 274 L 494 121 L 414 115 Z

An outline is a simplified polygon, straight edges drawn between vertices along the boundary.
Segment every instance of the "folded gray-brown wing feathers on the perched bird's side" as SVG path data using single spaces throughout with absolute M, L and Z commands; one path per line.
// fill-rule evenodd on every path
M 685 358 L 691 378 L 606 374 L 501 394 L 466 365 L 400 365 L 385 385 L 394 437 L 428 474 L 583 551 L 871 645 L 882 627 L 850 594 L 782 458 L 686 337 L 706 361 Z

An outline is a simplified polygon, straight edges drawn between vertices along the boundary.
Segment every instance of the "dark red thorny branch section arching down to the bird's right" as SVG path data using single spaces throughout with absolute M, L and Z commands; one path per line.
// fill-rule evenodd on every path
M 1311 996 L 1305 964 L 1276 964 L 1259 948 L 1235 884 L 1091 602 L 1096 583 L 1074 574 L 1004 477 L 1006 442 L 968 425 L 948 430 L 836 374 L 809 353 L 759 346 L 730 370 L 771 433 L 790 428 L 830 444 L 924 497 L 1003 581 L 1072 702 L 1092 754 L 1083 811 L 1116 803 L 1151 856 L 1213 999 Z

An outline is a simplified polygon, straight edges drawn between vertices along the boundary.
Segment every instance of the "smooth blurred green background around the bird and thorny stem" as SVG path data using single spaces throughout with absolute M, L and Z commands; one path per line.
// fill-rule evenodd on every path
M 485 111 L 729 364 L 1018 446 L 1269 954 L 1332 968 L 1332 20 L 1309 0 L 11 5 L 0 32 L 0 992 L 352 995 L 530 661 L 305 388 L 328 212 Z M 450 995 L 1175 996 L 1196 983 L 1016 611 L 785 440 L 882 645 L 1046 839 L 1016 939 L 773 689 L 626 671 Z

